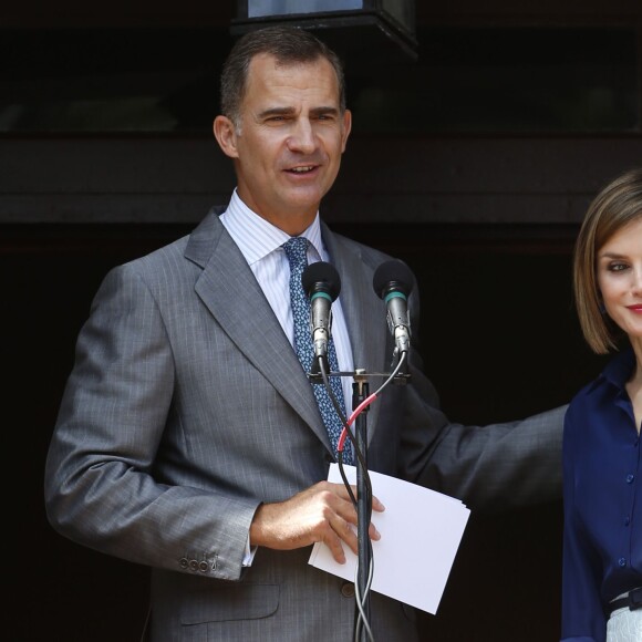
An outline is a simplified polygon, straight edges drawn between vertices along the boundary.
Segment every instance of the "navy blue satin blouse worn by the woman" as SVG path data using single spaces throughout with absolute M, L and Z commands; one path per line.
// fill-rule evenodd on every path
M 563 434 L 563 642 L 604 642 L 604 605 L 642 587 L 642 462 L 618 353 L 572 400 Z

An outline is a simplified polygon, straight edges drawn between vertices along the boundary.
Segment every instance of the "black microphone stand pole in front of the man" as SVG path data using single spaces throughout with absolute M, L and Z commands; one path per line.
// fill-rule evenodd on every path
M 352 385 L 352 407 L 356 410 L 359 405 L 369 396 L 369 385 L 365 370 L 356 369 L 354 371 L 354 383 Z M 356 573 L 356 586 L 359 588 L 359 599 L 361 600 L 361 611 L 356 617 L 365 620 L 370 627 L 370 567 L 371 567 L 371 543 L 367 535 L 370 518 L 372 512 L 372 497 L 370 495 L 365 477 L 367 475 L 367 432 L 366 432 L 366 411 L 359 413 L 355 420 L 354 436 L 359 451 L 363 455 L 363 465 L 356 457 L 356 539 L 358 539 L 358 559 L 359 568 Z M 365 466 L 365 469 L 364 467 Z M 366 642 L 367 630 L 361 627 L 360 642 Z

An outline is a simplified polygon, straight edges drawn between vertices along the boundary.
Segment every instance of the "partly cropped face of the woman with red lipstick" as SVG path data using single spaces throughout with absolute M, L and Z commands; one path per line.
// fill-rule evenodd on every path
M 642 345 L 642 217 L 600 248 L 597 275 L 609 317 L 632 343 Z

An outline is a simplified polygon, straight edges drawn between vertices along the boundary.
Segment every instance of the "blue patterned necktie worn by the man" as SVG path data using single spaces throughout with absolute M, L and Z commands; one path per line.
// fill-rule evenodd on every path
M 308 266 L 308 245 L 309 241 L 304 237 L 292 237 L 283 245 L 286 256 L 290 262 L 290 300 L 292 303 L 292 315 L 294 318 L 294 350 L 297 356 L 307 373 L 311 372 L 314 349 L 312 346 L 312 333 L 310 330 L 310 299 L 303 291 L 301 283 L 301 275 Z M 339 362 L 336 361 L 336 351 L 334 350 L 334 342 L 332 336 L 328 341 L 328 364 L 331 372 L 339 372 Z M 321 411 L 321 417 L 325 424 L 325 429 L 330 435 L 330 443 L 336 456 L 336 443 L 343 425 L 341 418 L 338 416 L 332 400 L 325 390 L 323 383 L 311 384 Z M 331 376 L 330 387 L 339 402 L 342 413 L 345 415 L 345 406 L 343 402 L 343 390 L 341 386 L 341 377 Z M 353 464 L 352 446 L 350 439 L 345 439 L 343 448 L 343 463 Z

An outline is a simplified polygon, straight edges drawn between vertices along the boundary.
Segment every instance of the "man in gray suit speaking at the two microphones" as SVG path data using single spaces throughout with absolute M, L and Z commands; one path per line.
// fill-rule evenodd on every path
M 325 480 L 336 453 L 292 348 L 282 246 L 304 236 L 308 259 L 340 275 L 332 336 L 344 372 L 390 369 L 372 283 L 391 257 L 319 219 L 351 128 L 333 52 L 297 29 L 246 35 L 221 102 L 214 134 L 237 188 L 222 214 L 106 276 L 49 452 L 48 516 L 70 539 L 152 568 L 154 642 L 345 642 L 354 599 L 308 559 L 317 541 L 339 562 L 344 546 L 356 551 L 356 512 Z M 416 289 L 408 310 L 418 327 Z M 370 407 L 370 469 L 473 509 L 560 497 L 565 408 L 463 426 L 441 412 L 413 350 L 407 367 L 410 383 Z M 371 614 L 376 640 L 416 639 L 404 604 L 372 594 Z

